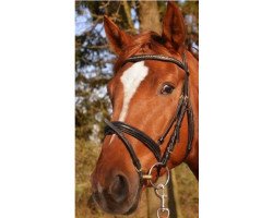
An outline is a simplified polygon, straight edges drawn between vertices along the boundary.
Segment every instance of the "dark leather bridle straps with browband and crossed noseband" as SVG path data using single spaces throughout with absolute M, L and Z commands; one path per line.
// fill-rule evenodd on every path
M 133 165 L 134 165 L 134 167 L 140 175 L 141 184 L 143 184 L 144 174 L 142 171 L 140 159 L 138 158 L 131 143 L 128 141 L 128 138 L 124 136 L 123 133 L 129 134 L 129 135 L 133 136 L 134 138 L 139 140 L 143 145 L 145 145 L 153 153 L 153 155 L 155 156 L 159 166 L 166 167 L 167 161 L 170 157 L 170 153 L 174 150 L 175 145 L 179 142 L 180 128 L 181 128 L 181 123 L 182 123 L 182 120 L 183 120 L 186 112 L 187 112 L 187 117 L 188 117 L 188 144 L 187 144 L 187 150 L 186 150 L 186 155 L 183 157 L 183 160 L 187 158 L 189 152 L 191 150 L 191 145 L 192 145 L 192 141 L 193 141 L 193 132 L 194 132 L 193 112 L 192 112 L 192 107 L 191 107 L 191 102 L 189 99 L 189 75 L 190 75 L 190 73 L 189 73 L 188 64 L 186 62 L 186 56 L 183 56 L 183 62 L 181 62 L 175 58 L 170 58 L 170 57 L 166 57 L 166 56 L 162 56 L 162 55 L 133 56 L 133 57 L 128 58 L 123 62 L 123 65 L 128 62 L 139 62 L 139 61 L 144 61 L 144 60 L 155 60 L 155 61 L 164 61 L 164 62 L 175 63 L 176 65 L 178 65 L 180 69 L 182 69 L 186 72 L 186 77 L 185 77 L 185 83 L 182 86 L 181 95 L 180 95 L 179 100 L 178 100 L 176 113 L 173 117 L 173 119 L 169 121 L 167 129 L 164 131 L 162 136 L 158 138 L 158 142 L 154 142 L 144 132 L 142 132 L 141 130 L 139 130 L 132 125 L 129 125 L 124 122 L 119 122 L 119 121 L 110 122 L 108 120 L 105 120 L 105 122 L 106 122 L 105 135 L 116 134 L 121 140 L 121 142 L 124 144 L 128 153 L 131 156 L 132 162 L 133 162 Z M 164 140 L 166 138 L 166 136 L 168 135 L 168 133 L 173 126 L 174 126 L 174 131 L 170 135 L 167 147 L 162 155 L 161 145 L 164 143 Z

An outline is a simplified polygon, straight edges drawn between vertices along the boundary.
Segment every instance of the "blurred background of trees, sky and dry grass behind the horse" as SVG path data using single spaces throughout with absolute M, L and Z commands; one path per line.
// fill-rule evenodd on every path
M 177 1 L 188 29 L 188 49 L 198 59 L 199 2 Z M 110 51 L 103 26 L 107 14 L 130 34 L 154 31 L 161 34 L 165 1 L 75 1 L 75 217 L 123 217 L 104 214 L 90 198 L 90 174 L 100 152 L 104 118 L 111 105 L 106 84 L 112 76 L 115 55 Z M 169 207 L 171 217 L 198 217 L 198 182 L 182 164 L 171 170 Z M 142 195 L 132 218 L 155 217 L 159 202 L 153 191 Z

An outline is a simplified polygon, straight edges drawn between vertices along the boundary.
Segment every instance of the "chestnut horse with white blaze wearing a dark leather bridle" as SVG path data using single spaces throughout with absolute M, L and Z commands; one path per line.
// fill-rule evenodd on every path
M 199 63 L 186 49 L 186 26 L 173 2 L 162 35 L 128 35 L 107 16 L 104 25 L 118 58 L 107 86 L 114 111 L 92 174 L 93 196 L 107 213 L 131 214 L 149 186 L 144 174 L 164 156 L 153 181 L 182 161 L 199 177 Z

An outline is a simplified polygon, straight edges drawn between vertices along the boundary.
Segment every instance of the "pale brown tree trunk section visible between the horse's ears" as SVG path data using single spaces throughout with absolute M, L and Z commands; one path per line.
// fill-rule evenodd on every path
M 157 1 L 140 1 L 140 31 L 162 33 Z

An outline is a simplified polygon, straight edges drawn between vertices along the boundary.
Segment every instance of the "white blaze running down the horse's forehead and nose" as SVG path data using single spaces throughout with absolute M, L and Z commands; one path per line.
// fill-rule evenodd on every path
M 136 93 L 141 82 L 146 77 L 147 73 L 149 68 L 144 65 L 144 61 L 140 61 L 127 69 L 120 77 L 120 81 L 123 85 L 123 105 L 119 114 L 119 121 L 123 122 L 126 120 L 130 100 Z M 114 136 L 115 135 L 111 136 L 109 144 L 111 144 Z

